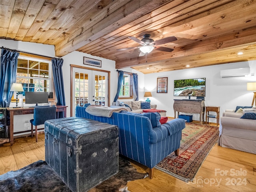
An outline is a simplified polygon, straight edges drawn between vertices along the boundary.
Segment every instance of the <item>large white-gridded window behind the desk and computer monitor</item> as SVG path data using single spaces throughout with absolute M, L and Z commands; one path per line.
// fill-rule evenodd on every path
M 18 57 L 16 82 L 22 83 L 26 91 L 52 92 L 52 71 L 50 61 L 35 58 Z

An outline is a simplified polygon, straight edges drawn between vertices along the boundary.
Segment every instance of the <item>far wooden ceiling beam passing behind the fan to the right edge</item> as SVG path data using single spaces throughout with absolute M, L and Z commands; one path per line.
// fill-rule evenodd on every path
M 247 46 L 256 44 L 255 36 L 256 28 L 233 32 L 231 34 L 224 34 L 214 38 L 208 38 L 204 41 L 199 41 L 187 46 L 176 47 L 173 52 L 156 52 L 145 56 L 130 58 L 126 60 L 116 61 L 116 68 L 126 68 L 139 66 L 143 64 L 151 64 L 160 61 L 170 60 L 171 58 L 180 58 L 188 55 L 198 55 L 215 50 L 224 50 L 240 46 Z M 235 39 L 235 40 L 234 40 Z

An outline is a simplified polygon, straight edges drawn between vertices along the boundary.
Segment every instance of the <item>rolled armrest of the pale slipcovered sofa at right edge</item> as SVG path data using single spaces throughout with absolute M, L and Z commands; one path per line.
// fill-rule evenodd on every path
M 220 122 L 222 124 L 222 130 L 224 129 L 244 129 L 256 131 L 256 120 L 253 119 L 241 119 L 233 117 L 221 117 Z

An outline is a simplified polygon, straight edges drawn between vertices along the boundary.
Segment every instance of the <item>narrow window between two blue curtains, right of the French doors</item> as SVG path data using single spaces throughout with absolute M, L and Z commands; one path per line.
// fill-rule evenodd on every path
M 132 74 L 124 73 L 119 98 L 132 98 Z

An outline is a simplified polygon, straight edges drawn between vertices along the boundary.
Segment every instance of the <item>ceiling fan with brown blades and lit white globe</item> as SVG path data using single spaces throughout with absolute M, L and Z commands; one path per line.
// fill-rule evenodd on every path
M 158 51 L 166 51 L 166 52 L 172 52 L 174 50 L 172 48 L 161 47 L 161 46 L 158 46 L 158 45 L 162 45 L 162 44 L 166 44 L 166 43 L 169 43 L 169 42 L 176 41 L 177 40 L 176 37 L 170 36 L 170 37 L 166 37 L 166 38 L 162 38 L 162 39 L 154 41 L 153 39 L 150 39 L 150 36 L 151 36 L 150 34 L 145 34 L 143 36 L 142 40 L 139 40 L 136 37 L 129 36 L 128 38 L 130 38 L 131 40 L 134 40 L 135 42 L 141 44 L 142 46 L 122 48 L 122 49 L 118 49 L 118 51 L 139 48 L 140 49 L 140 55 L 139 56 L 144 56 L 145 54 L 150 53 L 154 49 L 156 49 Z

